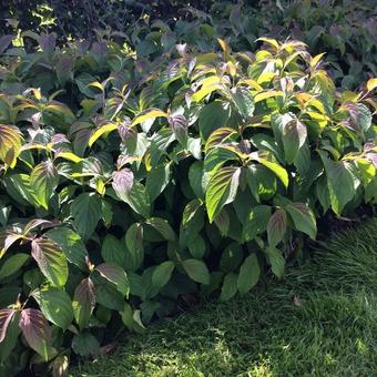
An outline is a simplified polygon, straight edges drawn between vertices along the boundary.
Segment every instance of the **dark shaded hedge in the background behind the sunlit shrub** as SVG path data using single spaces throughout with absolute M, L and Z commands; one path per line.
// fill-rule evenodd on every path
M 70 38 L 94 41 L 96 35 L 120 35 L 144 54 L 154 51 L 161 34 L 164 45 L 187 42 L 212 51 L 215 38 L 227 40 L 235 51 L 255 49 L 261 35 L 302 40 L 312 54 L 326 51 L 332 79 L 337 86 L 354 89 L 377 75 L 376 6 L 371 0 L 242 2 L 163 0 L 143 2 L 100 0 L 12 0 L 0 6 L 4 19 L 21 31 L 57 32 L 59 44 Z M 266 17 L 268 14 L 268 18 Z M 1 24 L 2 22 L 2 24 Z M 143 43 L 140 43 L 143 41 Z

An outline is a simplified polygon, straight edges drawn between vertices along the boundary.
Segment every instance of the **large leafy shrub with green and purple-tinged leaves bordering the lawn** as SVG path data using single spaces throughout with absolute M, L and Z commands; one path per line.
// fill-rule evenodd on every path
M 336 92 L 302 42 L 134 61 L 34 38 L 0 72 L 2 374 L 59 375 L 187 294 L 244 295 L 316 217 L 376 203 L 376 80 Z

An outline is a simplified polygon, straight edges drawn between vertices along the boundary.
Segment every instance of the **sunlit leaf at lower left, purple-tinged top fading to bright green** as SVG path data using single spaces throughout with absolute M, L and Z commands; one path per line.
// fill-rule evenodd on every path
M 31 255 L 37 261 L 42 274 L 55 286 L 63 286 L 68 279 L 65 254 L 49 238 L 34 238 L 31 242 Z

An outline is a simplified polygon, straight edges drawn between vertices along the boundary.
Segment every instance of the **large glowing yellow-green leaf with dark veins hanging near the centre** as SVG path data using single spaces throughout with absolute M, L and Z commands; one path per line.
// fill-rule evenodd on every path
M 205 204 L 210 223 L 225 204 L 232 203 L 238 188 L 241 170 L 234 166 L 222 167 L 211 175 L 205 193 Z

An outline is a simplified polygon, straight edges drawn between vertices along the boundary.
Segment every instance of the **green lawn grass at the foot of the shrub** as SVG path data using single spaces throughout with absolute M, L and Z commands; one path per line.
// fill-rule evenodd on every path
M 73 376 L 376 376 L 377 220 L 247 297 L 129 335 Z

